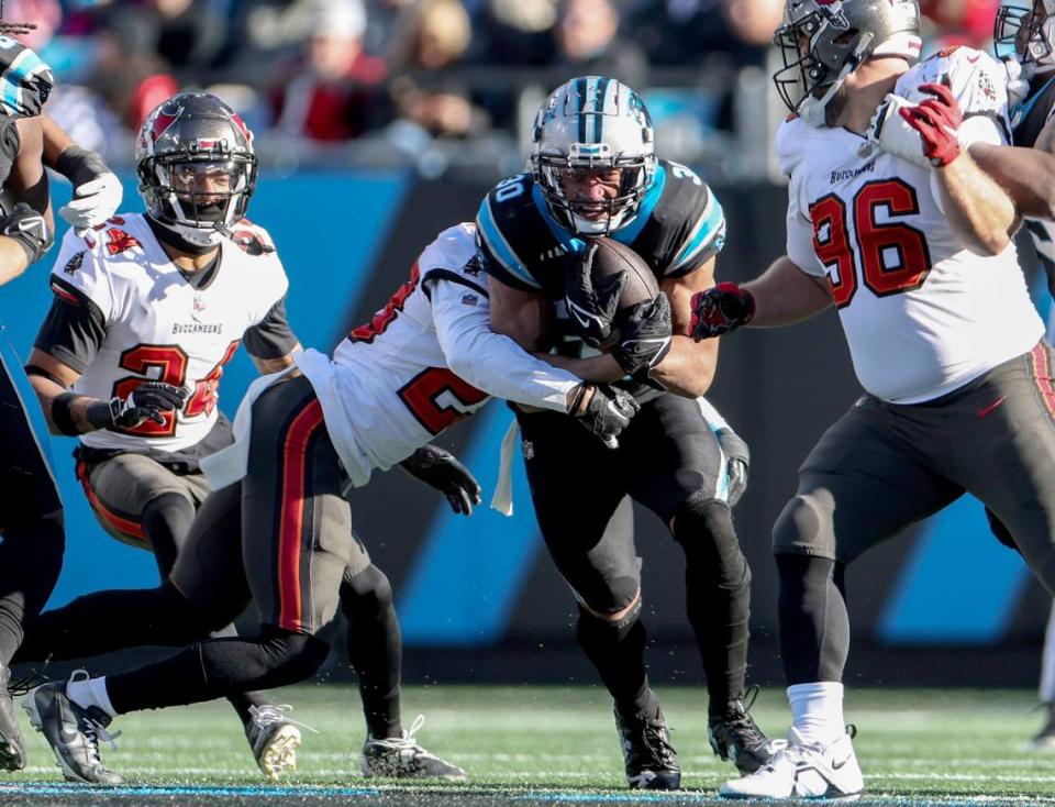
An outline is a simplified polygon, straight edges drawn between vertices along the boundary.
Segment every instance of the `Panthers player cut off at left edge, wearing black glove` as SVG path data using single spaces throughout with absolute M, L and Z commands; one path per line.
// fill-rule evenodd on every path
M 0 22 L 0 187 L 16 202 L 0 218 L 0 285 L 52 244 L 53 220 L 42 164 L 41 108 L 52 74 Z M 25 766 L 8 682 L 11 659 L 47 601 L 63 563 L 63 506 L 46 430 L 14 349 L 0 334 L 0 769 Z

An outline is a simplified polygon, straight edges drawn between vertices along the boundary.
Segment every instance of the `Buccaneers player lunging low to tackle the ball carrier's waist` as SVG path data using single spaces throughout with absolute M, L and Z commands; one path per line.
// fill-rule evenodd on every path
M 345 487 L 365 485 L 374 468 L 410 457 L 412 473 L 459 497 L 468 511 L 479 493 L 471 476 L 449 455 L 421 446 L 482 406 L 488 393 L 553 409 L 602 438 L 618 436 L 634 414 L 633 399 L 582 384 L 492 333 L 480 275 L 474 226 L 451 228 L 333 358 L 298 352 L 293 361 L 301 374 L 273 374 L 251 387 L 234 421 L 242 436 L 201 461 L 213 493 L 201 505 L 169 582 L 109 593 L 108 612 L 121 616 L 120 634 L 67 633 L 62 611 L 49 612 L 54 620 L 45 615 L 41 630 L 64 639 L 64 656 L 160 640 L 195 642 L 165 661 L 102 678 L 75 674 L 68 685 L 44 685 L 26 698 L 33 723 L 67 775 L 100 783 L 118 778 L 98 749 L 115 715 L 311 676 L 329 651 L 320 631 L 338 607 L 347 612 L 355 596 L 351 584 L 366 561 L 352 534 Z M 449 367 L 447 356 L 457 356 Z M 474 386 L 477 378 L 487 391 Z M 198 641 L 249 601 L 258 612 L 258 633 Z M 87 624 L 90 615 L 81 610 L 80 624 Z M 353 620 L 352 631 L 356 628 Z M 70 720 L 77 731 L 69 730 Z M 460 769 L 418 744 L 418 726 L 399 738 L 368 737 L 363 772 L 464 778 Z

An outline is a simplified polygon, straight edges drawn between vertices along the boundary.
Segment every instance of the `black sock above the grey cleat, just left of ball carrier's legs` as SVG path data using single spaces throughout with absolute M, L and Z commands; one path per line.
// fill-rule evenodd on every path
M 348 622 L 348 660 L 359 679 L 367 731 L 375 738 L 400 737 L 402 640 L 385 573 L 370 565 L 345 578 L 341 610 Z

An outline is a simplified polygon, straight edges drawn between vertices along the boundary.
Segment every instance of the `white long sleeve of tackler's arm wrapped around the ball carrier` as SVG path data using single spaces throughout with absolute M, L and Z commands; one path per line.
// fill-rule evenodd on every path
M 433 274 L 429 299 L 440 347 L 455 375 L 497 398 L 567 412 L 568 393 L 581 380 L 491 331 L 486 292 Z

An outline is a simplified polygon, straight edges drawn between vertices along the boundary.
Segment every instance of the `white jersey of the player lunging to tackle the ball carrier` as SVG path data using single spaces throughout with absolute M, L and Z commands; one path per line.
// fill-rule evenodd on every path
M 449 228 L 426 246 L 410 279 L 332 360 L 315 351 L 293 358 L 356 486 L 479 409 L 488 395 L 567 411 L 567 394 L 579 384 L 491 332 L 473 224 Z

